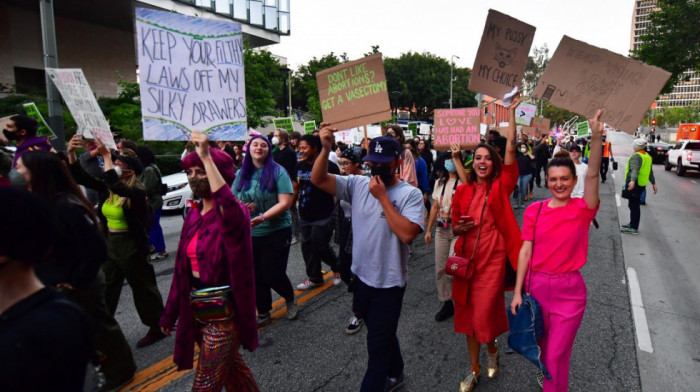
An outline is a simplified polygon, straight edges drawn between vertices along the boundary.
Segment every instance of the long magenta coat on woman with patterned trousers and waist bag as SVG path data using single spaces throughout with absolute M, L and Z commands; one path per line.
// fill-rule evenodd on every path
M 197 231 L 200 280 L 207 287 L 231 285 L 236 304 L 234 320 L 241 344 L 249 351 L 258 347 L 250 212 L 226 185 L 212 194 L 212 201 L 214 208 L 204 216 L 198 208 L 192 208 L 187 214 L 168 302 L 160 319 L 160 325 L 166 328 L 171 328 L 175 319 L 178 320 L 174 355 L 178 370 L 191 369 L 194 360 L 196 321 L 190 308 L 191 273 L 185 249 Z

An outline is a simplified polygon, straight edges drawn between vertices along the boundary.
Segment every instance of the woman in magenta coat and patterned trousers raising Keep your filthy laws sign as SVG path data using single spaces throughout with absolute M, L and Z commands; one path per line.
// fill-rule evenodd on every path
M 196 151 L 182 160 L 182 168 L 202 201 L 185 217 L 161 330 L 170 335 L 178 321 L 173 356 L 178 370 L 192 368 L 194 342 L 199 344 L 193 391 L 257 392 L 238 352 L 240 345 L 258 347 L 250 214 L 231 193 L 233 159 L 210 149 L 201 132 L 192 132 L 192 142 Z M 198 307 L 198 297 L 212 292 L 219 298 Z

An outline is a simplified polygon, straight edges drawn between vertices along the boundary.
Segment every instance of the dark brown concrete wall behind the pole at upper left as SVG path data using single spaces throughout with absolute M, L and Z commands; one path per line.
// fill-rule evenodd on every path
M 56 17 L 58 64 L 82 68 L 98 97 L 116 96 L 119 72 L 136 81 L 133 32 Z M 0 4 L 0 83 L 14 85 L 14 67 L 43 69 L 38 12 Z

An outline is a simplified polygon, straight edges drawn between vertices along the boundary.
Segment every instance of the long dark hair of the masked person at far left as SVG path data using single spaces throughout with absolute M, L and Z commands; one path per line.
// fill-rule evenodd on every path
M 52 203 L 62 198 L 73 198 L 84 207 L 90 218 L 97 222 L 92 204 L 56 154 L 49 151 L 27 151 L 22 154 L 21 159 L 31 174 L 32 193 Z

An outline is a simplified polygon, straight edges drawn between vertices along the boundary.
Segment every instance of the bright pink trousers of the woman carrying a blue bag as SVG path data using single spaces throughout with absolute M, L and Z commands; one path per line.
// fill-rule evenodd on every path
M 544 337 L 538 342 L 542 362 L 552 375 L 544 379 L 544 392 L 569 388 L 569 361 L 574 339 L 586 309 L 586 283 L 579 271 L 532 273 L 530 295 L 542 308 Z

